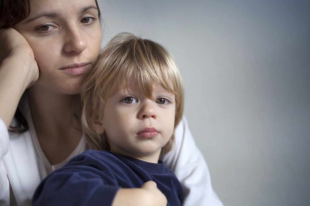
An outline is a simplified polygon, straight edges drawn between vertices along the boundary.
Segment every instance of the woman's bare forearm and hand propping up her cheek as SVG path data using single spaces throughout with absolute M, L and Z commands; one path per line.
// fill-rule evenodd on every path
M 0 29 L 0 48 L 0 118 L 8 128 L 20 97 L 37 81 L 39 70 L 28 42 L 15 29 Z

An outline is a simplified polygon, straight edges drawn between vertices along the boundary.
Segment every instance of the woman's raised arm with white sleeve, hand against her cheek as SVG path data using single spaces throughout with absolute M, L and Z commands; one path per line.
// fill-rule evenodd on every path
M 13 28 L 0 29 L 0 205 L 10 201 L 9 180 L 2 158 L 9 149 L 9 128 L 20 97 L 39 76 L 33 51 Z

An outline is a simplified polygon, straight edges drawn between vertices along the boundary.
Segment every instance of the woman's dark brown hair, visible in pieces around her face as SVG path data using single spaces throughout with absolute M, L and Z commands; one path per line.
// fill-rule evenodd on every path
M 98 2 L 95 1 L 101 20 Z M 30 9 L 30 0 L 0 0 L 0 29 L 14 27 L 16 23 L 24 20 L 30 14 Z M 14 117 L 15 126 L 10 126 L 9 132 L 23 133 L 29 130 L 27 120 L 19 108 L 16 109 Z

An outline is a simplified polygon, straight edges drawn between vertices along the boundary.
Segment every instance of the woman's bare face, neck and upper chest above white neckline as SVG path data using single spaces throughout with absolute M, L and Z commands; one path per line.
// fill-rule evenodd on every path
M 57 164 L 82 136 L 74 103 L 83 74 L 100 52 L 98 9 L 94 0 L 31 1 L 30 15 L 14 27 L 38 63 L 38 81 L 28 90 L 29 107 L 42 150 Z

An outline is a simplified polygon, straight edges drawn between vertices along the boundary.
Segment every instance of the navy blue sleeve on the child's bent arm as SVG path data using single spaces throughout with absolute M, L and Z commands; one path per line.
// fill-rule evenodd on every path
M 119 189 L 117 181 L 110 170 L 89 157 L 80 154 L 43 179 L 32 205 L 110 206 Z

